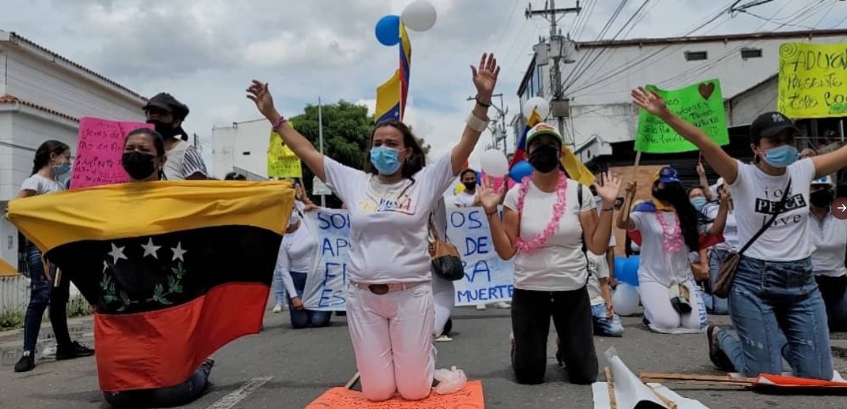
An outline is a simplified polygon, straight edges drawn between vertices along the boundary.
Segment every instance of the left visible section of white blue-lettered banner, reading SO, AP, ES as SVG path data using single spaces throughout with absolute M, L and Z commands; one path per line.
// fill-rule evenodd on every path
M 344 311 L 350 215 L 347 210 L 321 209 L 308 212 L 306 218 L 318 248 L 313 269 L 306 279 L 303 306 L 314 311 Z

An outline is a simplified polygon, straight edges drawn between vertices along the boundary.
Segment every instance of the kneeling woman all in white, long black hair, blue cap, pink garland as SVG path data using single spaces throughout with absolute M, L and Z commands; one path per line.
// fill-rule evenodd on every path
M 627 193 L 634 192 L 629 183 Z M 700 249 L 700 234 L 718 235 L 727 219 L 723 203 L 717 219 L 711 222 L 689 201 L 677 171 L 662 167 L 652 186 L 652 204 L 641 204 L 627 221 L 625 209 L 617 216 L 617 226 L 641 232 L 639 293 L 650 330 L 664 334 L 700 332 L 706 328 L 706 305 L 691 272 L 689 253 Z M 646 209 L 645 209 L 646 208 Z

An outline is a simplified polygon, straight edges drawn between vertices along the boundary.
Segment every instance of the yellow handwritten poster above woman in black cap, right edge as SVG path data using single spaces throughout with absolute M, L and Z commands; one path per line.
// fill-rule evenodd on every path
M 778 90 L 786 117 L 847 116 L 847 43 L 779 46 Z

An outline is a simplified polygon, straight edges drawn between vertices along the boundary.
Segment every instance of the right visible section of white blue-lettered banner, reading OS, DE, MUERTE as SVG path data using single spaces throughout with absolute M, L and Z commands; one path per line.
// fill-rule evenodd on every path
M 465 266 L 465 278 L 453 281 L 457 307 L 512 300 L 515 264 L 513 259 L 500 259 L 494 251 L 481 207 L 448 209 L 447 238 L 459 250 Z

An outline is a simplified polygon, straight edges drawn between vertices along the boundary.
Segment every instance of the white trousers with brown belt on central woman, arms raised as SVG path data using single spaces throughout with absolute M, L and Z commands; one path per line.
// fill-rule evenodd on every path
M 382 295 L 347 286 L 347 326 L 365 398 L 385 401 L 395 392 L 407 401 L 429 396 L 434 321 L 429 283 Z

